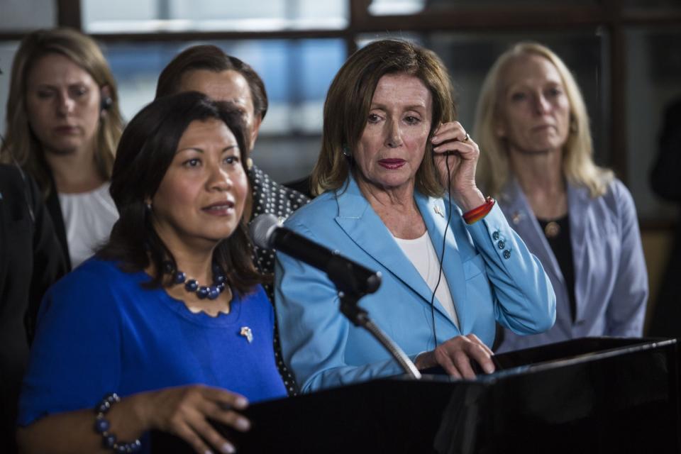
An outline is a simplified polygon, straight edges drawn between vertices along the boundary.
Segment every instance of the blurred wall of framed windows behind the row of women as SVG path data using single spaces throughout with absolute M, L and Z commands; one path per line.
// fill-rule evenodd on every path
M 665 106 L 681 99 L 681 0 L 0 0 L 2 131 L 18 41 L 58 25 L 100 43 L 128 119 L 189 45 L 213 43 L 250 63 L 270 97 L 253 158 L 279 182 L 309 174 L 326 89 L 369 40 L 405 38 L 438 52 L 468 127 L 497 55 L 518 40 L 545 43 L 585 94 L 597 162 L 633 193 L 655 304 L 678 207 L 651 192 L 648 175 Z

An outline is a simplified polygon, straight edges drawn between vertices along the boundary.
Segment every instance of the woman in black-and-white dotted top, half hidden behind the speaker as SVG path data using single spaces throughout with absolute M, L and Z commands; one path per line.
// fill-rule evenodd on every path
M 218 101 L 231 101 L 241 111 L 250 131 L 248 146 L 248 194 L 244 218 L 252 221 L 260 214 L 274 214 L 281 220 L 287 218 L 309 199 L 303 194 L 275 182 L 250 159 L 260 123 L 267 114 L 265 84 L 250 65 L 227 55 L 214 45 L 195 45 L 180 52 L 162 70 L 156 85 L 156 98 L 178 92 L 201 92 Z M 253 245 L 253 262 L 265 275 L 272 275 L 275 253 Z M 267 297 L 272 303 L 272 284 L 264 284 Z M 274 304 L 272 304 L 274 306 Z M 293 375 L 284 364 L 279 347 L 279 335 L 275 323 L 275 359 L 289 395 L 297 394 Z

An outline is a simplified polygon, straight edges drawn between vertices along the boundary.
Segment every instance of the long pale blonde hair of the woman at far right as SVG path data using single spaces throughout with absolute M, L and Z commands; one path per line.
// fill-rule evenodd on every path
M 558 55 L 544 45 L 529 42 L 517 43 L 500 55 L 482 84 L 473 128 L 473 136 L 481 150 L 477 167 L 477 181 L 480 187 L 492 196 L 499 196 L 499 192 L 509 180 L 511 166 L 508 151 L 504 140 L 496 133 L 499 102 L 504 99 L 502 74 L 511 62 L 524 55 L 546 58 L 563 79 L 565 95 L 570 102 L 570 133 L 563 145 L 563 175 L 571 184 L 587 187 L 592 197 L 602 196 L 607 192 L 613 173 L 594 164 L 589 114 L 580 88 Z

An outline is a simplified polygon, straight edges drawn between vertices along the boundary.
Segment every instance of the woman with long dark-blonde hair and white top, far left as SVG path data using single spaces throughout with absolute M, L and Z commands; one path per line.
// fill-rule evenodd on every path
M 118 218 L 109 195 L 123 129 L 116 82 L 92 38 L 54 28 L 21 41 L 9 93 L 2 160 L 38 182 L 64 255 L 76 267 Z

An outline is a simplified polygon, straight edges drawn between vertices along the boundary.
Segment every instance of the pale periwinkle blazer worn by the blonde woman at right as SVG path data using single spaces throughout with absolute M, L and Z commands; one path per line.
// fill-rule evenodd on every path
M 546 236 L 515 179 L 499 196 L 502 211 L 541 260 L 557 299 L 555 325 L 536 336 L 506 330 L 499 352 L 536 347 L 585 336 L 639 337 L 648 300 L 648 272 L 638 231 L 636 207 L 624 184 L 615 179 L 595 199 L 585 187 L 567 185 L 570 244 L 575 266 L 575 323 L 563 272 Z

